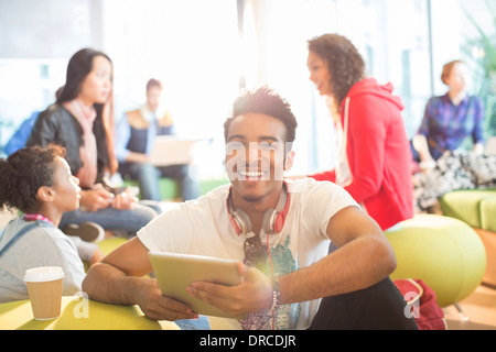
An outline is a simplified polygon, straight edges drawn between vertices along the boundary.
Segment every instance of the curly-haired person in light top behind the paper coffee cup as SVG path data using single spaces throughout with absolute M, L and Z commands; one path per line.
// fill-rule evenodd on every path
M 61 266 L 63 295 L 74 295 L 85 276 L 82 258 L 95 264 L 103 257 L 96 244 L 57 228 L 63 213 L 79 206 L 78 180 L 64 153 L 57 145 L 34 146 L 0 160 L 0 207 L 23 212 L 0 234 L 0 302 L 28 299 L 24 273 L 36 266 Z

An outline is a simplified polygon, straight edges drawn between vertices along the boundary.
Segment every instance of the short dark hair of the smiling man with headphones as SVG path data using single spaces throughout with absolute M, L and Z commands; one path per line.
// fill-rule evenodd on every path
M 234 102 L 231 116 L 224 122 L 224 139 L 227 135 L 233 120 L 244 113 L 263 113 L 280 120 L 285 127 L 284 142 L 294 142 L 296 136 L 296 118 L 291 106 L 273 89 L 262 86 L 252 90 L 245 90 Z

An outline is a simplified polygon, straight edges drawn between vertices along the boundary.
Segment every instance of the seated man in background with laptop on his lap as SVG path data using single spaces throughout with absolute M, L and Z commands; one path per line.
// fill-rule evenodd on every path
M 169 111 L 159 114 L 163 86 L 158 79 L 147 84 L 147 102 L 140 109 L 126 112 L 117 124 L 116 154 L 119 173 L 138 180 L 142 199 L 162 200 L 160 177 L 173 178 L 181 185 L 183 200 L 196 199 L 200 186 L 190 176 L 188 164 L 154 165 L 150 161 L 155 138 L 174 134 Z

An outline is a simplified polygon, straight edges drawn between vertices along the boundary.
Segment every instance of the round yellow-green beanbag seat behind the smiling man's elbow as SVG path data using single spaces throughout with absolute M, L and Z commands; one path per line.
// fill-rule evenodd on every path
M 481 284 L 486 252 L 477 233 L 461 220 L 417 215 L 385 232 L 398 266 L 391 279 L 422 279 L 440 307 L 455 304 Z

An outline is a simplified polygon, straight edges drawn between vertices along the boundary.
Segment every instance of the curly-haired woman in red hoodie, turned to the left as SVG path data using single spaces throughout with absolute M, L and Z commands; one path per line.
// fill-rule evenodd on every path
M 337 132 L 335 169 L 310 177 L 344 187 L 382 230 L 411 218 L 411 152 L 392 85 L 366 78 L 358 51 L 337 34 L 309 41 L 308 66 Z

